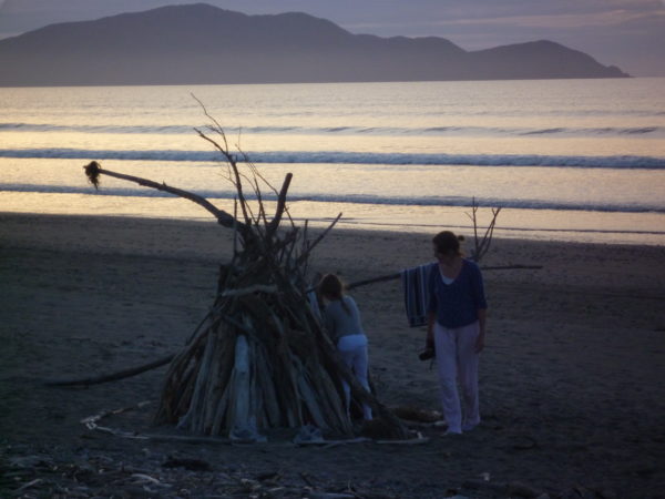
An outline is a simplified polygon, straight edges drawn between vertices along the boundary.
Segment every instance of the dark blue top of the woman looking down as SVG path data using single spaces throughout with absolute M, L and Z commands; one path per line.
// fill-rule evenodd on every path
M 468 326 L 478 320 L 478 310 L 488 307 L 480 267 L 462 259 L 457 278 L 443 283 L 437 265 L 429 276 L 429 312 L 437 313 L 437 322 L 448 328 Z

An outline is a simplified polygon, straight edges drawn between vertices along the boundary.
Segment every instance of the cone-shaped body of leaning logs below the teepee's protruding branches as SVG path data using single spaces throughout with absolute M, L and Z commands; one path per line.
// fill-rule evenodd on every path
M 170 366 L 157 422 L 204 435 L 250 421 L 351 432 L 332 345 L 305 286 L 270 259 L 250 265 L 254 272 L 242 264 L 226 272 L 214 313 Z M 278 279 L 269 278 L 269 268 Z M 270 282 L 248 285 L 258 276 Z

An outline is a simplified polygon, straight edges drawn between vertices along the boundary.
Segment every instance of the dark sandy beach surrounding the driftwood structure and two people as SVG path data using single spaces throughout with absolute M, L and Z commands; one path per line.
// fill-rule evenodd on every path
M 431 259 L 430 238 L 336 230 L 313 271 L 347 282 L 398 272 Z M 88 388 L 44 381 L 177 352 L 212 304 L 229 241 L 214 223 L 0 214 L 0 496 L 47 497 L 66 479 L 60 497 L 110 497 L 145 475 L 160 485 L 116 497 L 229 497 L 221 483 L 241 476 L 311 492 L 255 497 L 665 497 L 665 247 L 653 245 L 494 241 L 483 265 L 542 268 L 484 274 L 483 422 L 459 438 L 422 426 L 430 440 L 415 446 L 238 447 L 89 430 L 81 419 L 151 400 L 103 425 L 154 431 L 166 368 Z M 399 282 L 352 295 L 380 400 L 440 410 L 436 371 L 418 359 L 424 332 L 408 327 Z M 165 467 L 174 457 L 209 468 Z

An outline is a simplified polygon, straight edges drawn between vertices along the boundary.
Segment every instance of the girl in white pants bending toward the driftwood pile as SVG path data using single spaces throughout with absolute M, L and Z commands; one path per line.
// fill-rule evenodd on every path
M 344 363 L 356 375 L 358 383 L 369 391 L 367 336 L 362 329 L 360 310 L 356 301 L 344 294 L 344 285 L 334 274 L 327 274 L 321 278 L 319 293 L 328 302 L 324 310 L 326 329 L 337 345 Z M 347 415 L 350 417 L 351 389 L 348 383 L 345 380 L 341 383 Z M 362 417 L 366 420 L 371 419 L 371 408 L 367 404 L 362 404 Z

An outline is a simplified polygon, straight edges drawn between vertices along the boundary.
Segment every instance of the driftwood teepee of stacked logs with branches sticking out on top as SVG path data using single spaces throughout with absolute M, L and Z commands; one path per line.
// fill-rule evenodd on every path
M 256 429 L 313 425 L 348 436 L 352 425 L 340 384 L 346 379 L 354 400 L 372 407 L 383 437 L 406 438 L 399 419 L 340 361 L 307 296 L 310 253 L 339 216 L 309 240 L 307 223 L 297 226 L 288 214 L 291 175 L 273 189 L 242 152 L 241 161 L 229 152 L 223 129 L 211 120 L 217 140 L 197 132 L 225 163 L 236 190 L 234 215 L 187 191 L 103 170 L 95 161 L 85 166 L 95 187 L 100 175 L 109 175 L 165 191 L 200 204 L 234 231 L 233 257 L 221 266 L 214 304 L 170 365 L 155 422 L 200 435 L 253 438 Z M 262 187 L 276 198 L 272 216 Z

